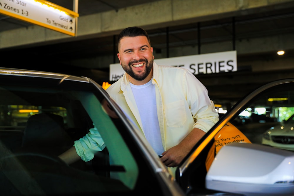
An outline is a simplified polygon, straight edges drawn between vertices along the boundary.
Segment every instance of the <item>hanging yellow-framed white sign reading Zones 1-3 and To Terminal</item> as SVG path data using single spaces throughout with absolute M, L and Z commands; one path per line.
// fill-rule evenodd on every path
M 78 13 L 42 0 L 0 0 L 0 13 L 75 36 Z

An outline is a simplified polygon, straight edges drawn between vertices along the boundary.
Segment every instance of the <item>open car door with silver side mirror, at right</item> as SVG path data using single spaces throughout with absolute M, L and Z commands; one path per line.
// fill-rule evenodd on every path
M 281 124 L 293 111 L 294 79 L 245 96 L 178 167 L 181 188 L 187 195 L 293 195 L 294 124 Z

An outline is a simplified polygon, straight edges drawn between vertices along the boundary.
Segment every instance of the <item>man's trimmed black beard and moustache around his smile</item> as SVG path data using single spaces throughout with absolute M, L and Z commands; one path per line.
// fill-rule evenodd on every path
M 131 68 L 131 64 L 133 63 L 138 63 L 138 62 L 145 62 L 146 66 L 145 66 L 145 70 L 143 71 L 143 73 L 141 73 L 140 75 L 136 75 L 132 68 Z M 123 66 L 122 66 L 123 67 Z M 130 75 L 132 78 L 134 78 L 135 80 L 138 80 L 138 81 L 142 81 L 144 80 L 145 78 L 147 78 L 147 76 L 149 75 L 149 73 L 151 72 L 153 68 L 153 59 L 151 59 L 151 61 L 147 61 L 146 59 L 140 59 L 139 61 L 132 61 L 128 64 L 128 68 L 124 68 L 124 71 Z

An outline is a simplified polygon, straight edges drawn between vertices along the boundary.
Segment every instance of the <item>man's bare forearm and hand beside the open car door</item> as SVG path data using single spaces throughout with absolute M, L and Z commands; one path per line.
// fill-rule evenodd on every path
M 203 130 L 194 128 L 178 145 L 162 153 L 161 162 L 167 167 L 177 167 L 203 135 Z

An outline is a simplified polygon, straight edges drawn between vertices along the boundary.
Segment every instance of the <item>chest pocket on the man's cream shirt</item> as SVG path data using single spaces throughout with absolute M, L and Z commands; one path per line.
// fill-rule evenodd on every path
M 184 100 L 168 103 L 163 106 L 163 110 L 169 127 L 180 127 L 187 119 Z

